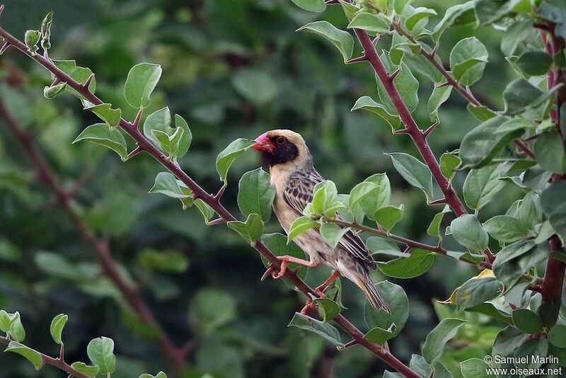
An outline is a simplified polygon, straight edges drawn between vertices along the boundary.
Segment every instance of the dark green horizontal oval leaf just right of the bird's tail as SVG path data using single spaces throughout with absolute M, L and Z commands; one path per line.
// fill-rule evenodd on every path
M 434 264 L 434 254 L 420 248 L 414 248 L 410 251 L 409 257 L 395 258 L 387 263 L 377 263 L 377 267 L 381 272 L 389 277 L 395 278 L 414 278 L 418 277 Z

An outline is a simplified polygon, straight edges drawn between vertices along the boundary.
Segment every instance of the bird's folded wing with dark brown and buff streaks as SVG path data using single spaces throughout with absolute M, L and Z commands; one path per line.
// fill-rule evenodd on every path
M 308 203 L 313 200 L 313 188 L 317 183 L 324 181 L 324 178 L 314 169 L 308 171 L 297 171 L 289 176 L 287 188 L 283 192 L 283 199 L 291 209 L 297 214 L 302 215 Z M 340 217 L 340 214 L 337 214 Z M 364 241 L 352 231 L 347 231 L 338 242 L 338 248 L 352 254 L 357 260 L 375 269 L 376 263 L 371 257 Z

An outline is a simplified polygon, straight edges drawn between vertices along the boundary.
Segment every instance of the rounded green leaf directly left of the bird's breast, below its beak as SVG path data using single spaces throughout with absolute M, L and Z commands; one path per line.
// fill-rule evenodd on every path
M 271 205 L 275 199 L 275 186 L 270 183 L 270 175 L 262 168 L 243 174 L 238 183 L 238 207 L 242 214 L 260 214 L 267 222 L 271 216 Z

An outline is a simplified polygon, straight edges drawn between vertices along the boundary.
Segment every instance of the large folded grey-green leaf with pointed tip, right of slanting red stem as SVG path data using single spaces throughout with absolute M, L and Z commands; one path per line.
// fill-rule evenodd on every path
M 459 154 L 463 168 L 485 166 L 503 147 L 523 134 L 521 130 L 497 134 L 497 128 L 506 120 L 502 116 L 491 118 L 463 137 Z

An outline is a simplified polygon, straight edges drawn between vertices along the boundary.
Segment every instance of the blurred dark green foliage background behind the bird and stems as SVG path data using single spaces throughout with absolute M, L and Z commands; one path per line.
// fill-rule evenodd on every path
M 345 66 L 334 48 L 301 25 L 326 19 L 345 28 L 340 7 L 322 15 L 307 13 L 287 0 L 209 1 L 4 1 L 0 23 L 23 39 L 25 29 L 37 29 L 43 16 L 54 11 L 51 57 L 76 59 L 96 72 L 97 94 L 122 108 L 126 118 L 136 110 L 123 98 L 129 68 L 139 62 L 161 64 L 163 76 L 151 99 L 151 111 L 168 105 L 183 115 L 194 136 L 180 164 L 204 188 L 215 192 L 220 182 L 214 171 L 216 154 L 237 137 L 256 137 L 265 130 L 291 128 L 307 140 L 318 171 L 337 183 L 342 193 L 373 173 L 387 171 L 393 205 L 403 203 L 405 215 L 396 233 L 434 243 L 426 234 L 441 207 L 426 205 L 424 195 L 410 188 L 393 169 L 385 152 L 404 151 L 416 156 L 409 137 L 393 136 L 380 119 L 350 113 L 357 98 L 376 98 L 373 71 L 366 64 Z M 439 15 L 458 1 L 415 1 Z M 437 21 L 440 16 L 435 20 Z M 475 35 L 490 51 L 482 81 L 473 87 L 483 101 L 497 103 L 512 72 L 499 52 L 500 33 L 492 29 L 459 27 L 444 33 L 440 55 L 447 62 L 451 47 Z M 387 38 L 379 44 L 388 48 Z M 359 50 L 359 47 L 357 47 Z M 255 81 L 238 86 L 243 75 Z M 15 50 L 0 58 L 0 96 L 18 120 L 37 135 L 36 143 L 48 156 L 59 178 L 72 187 L 84 181 L 76 197 L 83 216 L 110 238 L 112 254 L 122 268 L 141 282 L 144 297 L 159 321 L 179 345 L 192 340 L 187 360 L 200 377 L 333 377 L 381 376 L 385 366 L 363 348 L 338 353 L 322 338 L 287 328 L 304 297 L 282 281 L 260 282 L 264 268 L 253 249 L 224 226 L 205 227 L 196 209 L 183 211 L 178 201 L 147 194 L 160 166 L 139 155 L 122 164 L 112 152 L 92 144 L 71 142 L 81 130 L 98 122 L 81 110 L 76 98 L 49 101 L 42 88 L 50 76 L 42 67 Z M 431 81 L 420 80 L 421 127 L 431 122 L 427 99 Z M 453 93 L 440 110 L 441 125 L 429 139 L 435 154 L 458 148 L 461 137 L 478 124 L 466 111 L 466 102 Z M 20 311 L 28 334 L 25 343 L 57 355 L 49 336 L 50 321 L 69 314 L 64 331 L 67 360 L 87 361 L 91 338 L 112 337 L 118 370 L 112 377 L 138 377 L 142 372 L 169 371 L 151 333 L 136 321 L 112 284 L 97 273 L 96 260 L 69 220 L 56 206 L 31 168 L 25 154 L 0 120 L 0 308 Z M 238 159 L 229 175 L 224 204 L 237 212 L 238 178 L 259 166 L 249 152 Z M 463 174 L 456 176 L 458 191 Z M 504 190 L 483 216 L 504 212 L 515 199 Z M 446 224 L 451 217 L 446 217 Z M 281 231 L 274 219 L 267 231 Z M 445 246 L 456 248 L 446 241 Z M 173 271 L 156 267 L 144 251 L 177 251 L 183 257 Z M 147 256 L 147 252 L 146 252 Z M 187 268 L 183 269 L 184 260 Z M 175 271 L 179 270 L 179 271 Z M 77 274 L 78 273 L 78 274 Z M 446 299 L 475 270 L 449 258 L 437 258 L 433 268 L 402 285 L 410 300 L 410 318 L 391 341 L 393 353 L 410 360 L 436 325 L 434 299 Z M 328 269 L 311 270 L 313 285 Z M 375 273 L 376 280 L 385 279 Z M 391 278 L 390 278 L 391 280 Z M 364 298 L 344 282 L 345 316 L 365 330 Z M 210 300 L 215 298 L 214 301 Z M 203 300 L 204 299 L 204 300 Z M 203 304 L 204 302 L 205 304 Z M 212 305 L 222 314 L 216 326 L 197 316 Z M 459 360 L 483 357 L 499 328 L 478 314 L 461 328 L 452 343 L 454 353 L 444 357 L 450 367 Z M 343 340 L 347 341 L 347 340 Z M 40 373 L 16 355 L 0 353 L 0 377 L 62 377 L 45 367 Z M 193 375 L 189 375 L 193 376 Z

